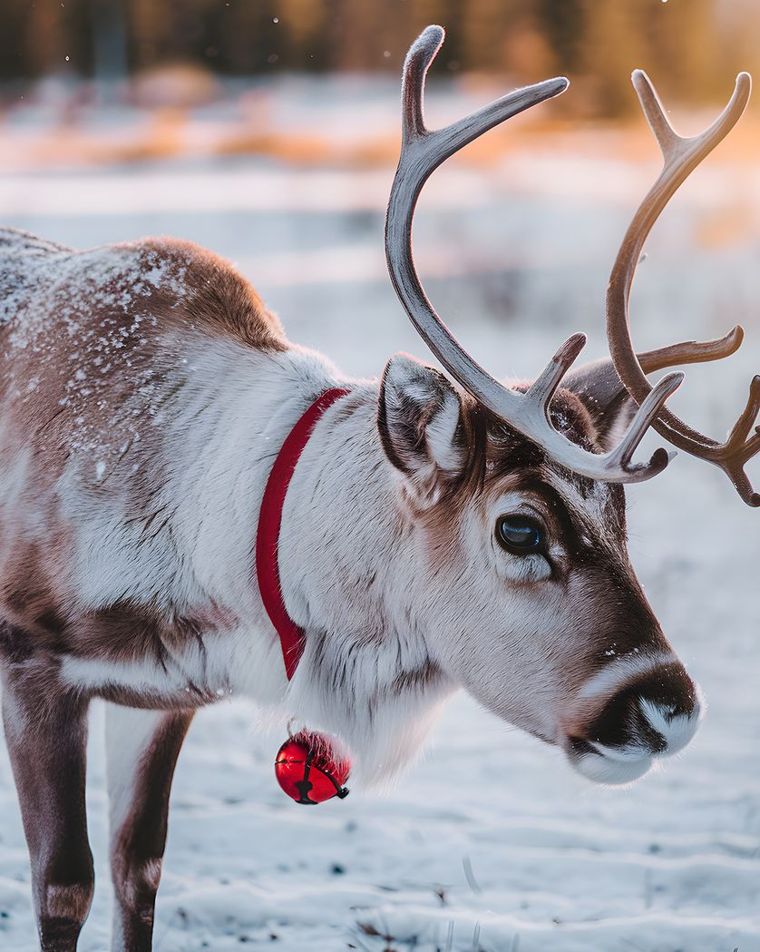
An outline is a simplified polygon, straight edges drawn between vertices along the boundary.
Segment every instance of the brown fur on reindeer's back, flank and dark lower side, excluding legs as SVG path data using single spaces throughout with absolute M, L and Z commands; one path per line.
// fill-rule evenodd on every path
M 0 617 L 45 652 L 160 658 L 195 638 L 197 621 L 149 605 L 79 614 L 64 581 L 72 533 L 53 487 L 72 450 L 90 450 L 93 477 L 107 454 L 93 496 L 119 493 L 127 523 L 146 538 L 161 532 L 170 513 L 153 503 L 166 467 L 160 427 L 138 433 L 137 422 L 185 387 L 182 340 L 282 351 L 283 329 L 234 268 L 167 238 L 75 251 L 0 229 L 0 301 L 0 475 L 24 467 L 9 479 L 18 504 L 6 499 L 0 514 Z M 119 467 L 128 478 L 114 486 Z M 31 487 L 33 505 L 24 500 Z M 44 515 L 44 545 L 18 522 L 32 509 Z

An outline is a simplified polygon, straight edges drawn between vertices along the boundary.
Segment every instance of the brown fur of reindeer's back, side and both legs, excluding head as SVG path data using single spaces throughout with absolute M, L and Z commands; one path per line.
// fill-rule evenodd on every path
M 253 288 L 204 248 L 148 239 L 80 252 L 0 229 L 0 669 L 43 952 L 76 948 L 93 885 L 84 797 L 89 697 L 61 683 L 62 659 L 169 666 L 189 645 L 204 650 L 202 631 L 234 623 L 213 604 L 178 615 L 117 599 L 84 611 L 67 588 L 73 532 L 57 484 L 74 460 L 91 466 L 81 485 L 93 509 L 117 498 L 146 540 L 164 531 L 170 513 L 155 501 L 167 466 L 161 427 L 138 430 L 137 422 L 191 386 L 183 348 L 209 338 L 288 347 Z M 192 684 L 182 697 L 117 685 L 101 694 L 174 708 L 217 700 Z M 166 714 L 114 844 L 117 898 L 135 950 L 150 947 L 168 790 L 191 716 Z

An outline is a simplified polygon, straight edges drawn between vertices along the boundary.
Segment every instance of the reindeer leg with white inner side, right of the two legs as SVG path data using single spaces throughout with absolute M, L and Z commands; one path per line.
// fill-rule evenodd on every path
M 169 792 L 192 717 L 192 711 L 107 707 L 113 952 L 152 947 Z

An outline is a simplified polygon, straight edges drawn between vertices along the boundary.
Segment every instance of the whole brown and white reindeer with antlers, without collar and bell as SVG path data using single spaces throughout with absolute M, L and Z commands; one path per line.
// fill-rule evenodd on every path
M 695 433 L 663 408 L 682 375 L 653 388 L 645 375 L 725 357 L 741 328 L 637 356 L 628 297 L 653 222 L 737 121 L 750 79 L 711 129 L 682 139 L 634 74 L 665 168 L 615 262 L 612 360 L 571 369 L 576 334 L 534 383 L 502 385 L 425 296 L 414 209 L 448 156 L 568 84 L 427 129 L 442 39 L 424 30 L 404 65 L 385 245 L 403 307 L 456 383 L 405 354 L 380 382 L 345 379 L 289 343 L 233 268 L 184 241 L 76 251 L 0 233 L 2 702 L 44 952 L 76 948 L 92 896 L 93 698 L 109 702 L 118 952 L 151 947 L 172 773 L 194 711 L 221 697 L 333 731 L 369 779 L 408 761 L 458 687 L 601 783 L 633 781 L 697 727 L 698 688 L 627 555 L 623 486 L 668 464 L 664 449 L 633 462 L 653 426 L 757 506 L 743 466 L 760 448 L 760 378 L 725 444 Z M 303 633 L 286 675 L 253 570 L 256 516 L 291 428 L 336 388 L 270 553 Z

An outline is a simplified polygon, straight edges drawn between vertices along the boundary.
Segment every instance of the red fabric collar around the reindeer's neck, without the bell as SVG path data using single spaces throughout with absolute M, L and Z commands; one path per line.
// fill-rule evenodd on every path
M 285 495 L 303 448 L 309 442 L 314 427 L 317 426 L 324 411 L 348 392 L 340 387 L 325 390 L 322 396 L 318 397 L 306 410 L 296 426 L 288 433 L 263 491 L 259 528 L 256 533 L 256 578 L 266 614 L 280 635 L 288 681 L 296 673 L 296 668 L 301 661 L 305 633 L 288 615 L 283 602 L 283 588 L 280 585 L 280 565 L 277 556 L 280 530 L 283 526 Z

